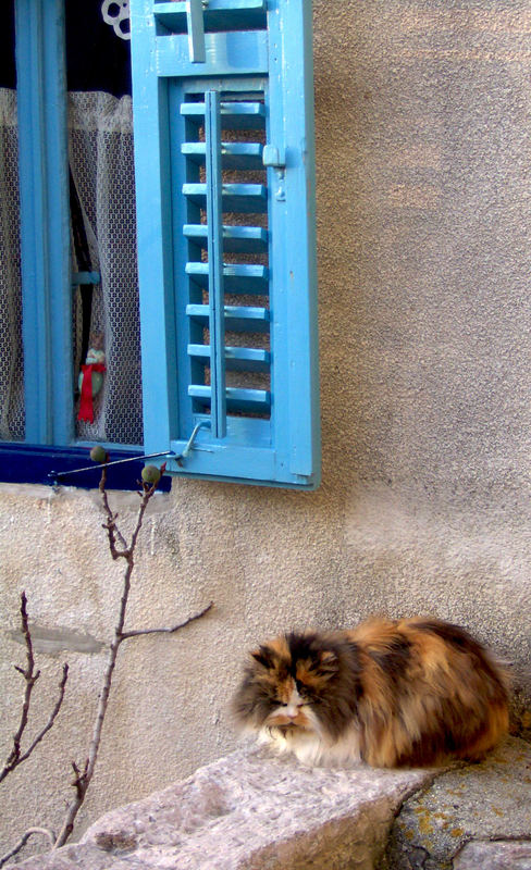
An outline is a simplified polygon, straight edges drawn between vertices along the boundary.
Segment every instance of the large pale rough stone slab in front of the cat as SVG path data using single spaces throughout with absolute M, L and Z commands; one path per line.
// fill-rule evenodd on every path
M 310 769 L 235 753 L 102 817 L 25 870 L 372 870 L 402 801 L 435 771 Z

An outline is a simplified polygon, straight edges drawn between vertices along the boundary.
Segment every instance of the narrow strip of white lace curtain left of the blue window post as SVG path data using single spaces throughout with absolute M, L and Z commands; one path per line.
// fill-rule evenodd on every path
M 0 88 L 0 438 L 24 438 L 16 94 Z

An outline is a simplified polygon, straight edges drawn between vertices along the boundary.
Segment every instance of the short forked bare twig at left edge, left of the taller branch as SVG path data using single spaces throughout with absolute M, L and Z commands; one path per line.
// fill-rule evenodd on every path
M 21 743 L 24 731 L 27 725 L 27 720 L 29 716 L 29 706 L 32 703 L 32 692 L 34 688 L 35 683 L 40 676 L 40 671 L 35 670 L 35 659 L 33 652 L 33 643 L 32 643 L 32 633 L 29 631 L 28 619 L 27 619 L 27 598 L 26 593 L 23 592 L 21 594 L 21 623 L 22 623 L 22 633 L 24 635 L 24 642 L 26 644 L 26 668 L 23 670 L 15 664 L 15 670 L 18 671 L 26 681 L 26 688 L 24 692 L 24 700 L 22 705 L 22 712 L 21 712 L 21 721 L 18 728 L 13 735 L 13 748 L 9 754 L 5 763 L 0 771 L 0 782 L 5 779 L 8 773 L 11 773 L 18 765 L 22 765 L 23 761 L 26 761 L 27 758 L 32 755 L 35 747 L 40 743 L 42 737 L 50 731 L 52 728 L 59 710 L 61 709 L 61 705 L 64 698 L 64 689 L 66 686 L 66 680 L 69 678 L 69 666 L 66 662 L 63 664 L 63 673 L 61 676 L 61 682 L 59 684 L 59 696 L 55 701 L 55 706 L 51 711 L 46 725 L 39 731 L 37 736 L 34 738 L 33 743 L 29 744 L 29 747 L 26 749 L 25 753 L 22 751 Z M 33 830 L 33 829 L 32 829 Z M 1 867 L 1 865 L 0 865 Z

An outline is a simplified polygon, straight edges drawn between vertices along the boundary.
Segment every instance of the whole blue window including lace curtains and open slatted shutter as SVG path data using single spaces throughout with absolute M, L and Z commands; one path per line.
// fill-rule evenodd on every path
M 138 308 L 131 105 L 77 92 L 72 63 L 66 103 L 64 0 L 14 0 L 3 480 L 50 482 L 100 440 L 111 458 L 168 452 L 175 474 L 318 484 L 310 5 L 132 0 Z M 98 336 L 91 423 L 77 376 Z

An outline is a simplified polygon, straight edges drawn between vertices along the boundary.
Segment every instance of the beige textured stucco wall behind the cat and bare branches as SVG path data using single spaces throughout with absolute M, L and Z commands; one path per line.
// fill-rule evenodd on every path
M 531 685 L 531 2 L 314 9 L 323 484 L 176 482 L 156 499 L 131 624 L 215 610 L 122 648 L 84 824 L 237 745 L 226 700 L 271 632 L 431 612 Z M 136 502 L 116 496 L 125 522 Z M 83 492 L 0 487 L 3 627 L 24 587 L 71 647 L 109 638 L 121 568 L 101 520 Z M 0 639 L 14 722 L 23 649 Z M 48 703 L 63 657 L 67 704 L 3 790 L 5 840 L 57 824 L 83 759 L 104 654 L 42 655 Z

